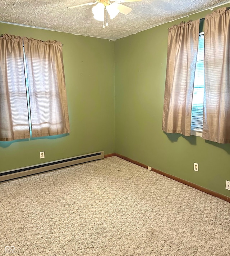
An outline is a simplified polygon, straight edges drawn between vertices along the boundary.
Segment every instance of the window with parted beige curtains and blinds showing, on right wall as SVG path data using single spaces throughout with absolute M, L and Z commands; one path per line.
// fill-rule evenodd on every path
M 229 8 L 204 18 L 205 45 L 200 27 L 169 28 L 162 130 L 230 143 Z

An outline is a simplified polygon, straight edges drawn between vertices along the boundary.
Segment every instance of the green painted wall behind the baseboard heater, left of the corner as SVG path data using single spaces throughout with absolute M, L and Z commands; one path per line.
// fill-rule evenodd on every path
M 114 42 L 0 23 L 0 34 L 58 40 L 71 132 L 68 136 L 0 142 L 0 171 L 96 151 L 114 152 Z M 40 159 L 45 151 L 45 159 Z

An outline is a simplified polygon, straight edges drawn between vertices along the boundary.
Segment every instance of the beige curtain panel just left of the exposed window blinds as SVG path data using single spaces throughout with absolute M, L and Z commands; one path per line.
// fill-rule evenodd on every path
M 169 28 L 162 130 L 190 136 L 199 20 Z

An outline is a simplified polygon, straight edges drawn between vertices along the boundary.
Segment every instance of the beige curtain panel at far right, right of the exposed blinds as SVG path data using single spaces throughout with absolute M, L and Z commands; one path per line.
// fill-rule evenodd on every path
M 203 138 L 230 143 L 230 11 L 205 17 Z

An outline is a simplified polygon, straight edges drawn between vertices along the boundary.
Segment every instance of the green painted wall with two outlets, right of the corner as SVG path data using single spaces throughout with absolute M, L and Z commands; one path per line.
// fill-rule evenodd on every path
M 166 23 L 115 41 L 115 152 L 230 196 L 230 144 L 162 131 L 168 27 Z M 193 163 L 199 163 L 199 172 Z

